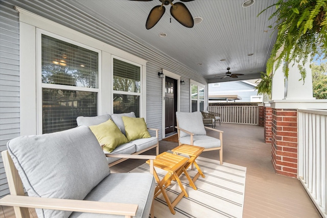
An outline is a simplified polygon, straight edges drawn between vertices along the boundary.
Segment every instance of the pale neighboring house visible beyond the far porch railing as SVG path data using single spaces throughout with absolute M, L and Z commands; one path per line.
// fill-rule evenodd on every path
M 209 83 L 209 103 L 263 102 L 263 96 L 255 90 L 256 80 Z

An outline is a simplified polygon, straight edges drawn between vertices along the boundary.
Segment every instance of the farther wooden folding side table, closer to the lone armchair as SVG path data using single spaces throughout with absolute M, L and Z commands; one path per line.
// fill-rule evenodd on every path
M 197 180 L 200 175 L 202 178 L 205 177 L 199 165 L 195 161 L 195 159 L 202 153 L 203 150 L 204 150 L 203 147 L 191 146 L 190 144 L 181 144 L 180 146 L 172 149 L 172 152 L 174 152 L 174 154 L 185 154 L 190 156 L 189 161 L 184 166 L 185 169 L 189 168 L 192 164 L 194 164 L 195 167 L 197 168 L 198 173 L 193 177 L 193 180 L 189 179 L 190 185 L 193 187 L 194 190 L 197 189 L 197 187 L 194 184 L 195 180 Z M 180 174 L 178 176 L 180 176 Z

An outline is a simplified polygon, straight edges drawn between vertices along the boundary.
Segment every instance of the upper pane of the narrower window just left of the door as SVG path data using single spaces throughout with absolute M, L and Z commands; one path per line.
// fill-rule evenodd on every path
M 141 92 L 141 67 L 113 59 L 113 90 Z

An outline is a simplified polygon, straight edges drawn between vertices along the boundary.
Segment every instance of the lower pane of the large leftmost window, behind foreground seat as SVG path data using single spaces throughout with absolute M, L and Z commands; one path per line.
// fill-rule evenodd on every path
M 76 127 L 78 116 L 97 116 L 97 99 L 96 92 L 43 88 L 43 133 Z

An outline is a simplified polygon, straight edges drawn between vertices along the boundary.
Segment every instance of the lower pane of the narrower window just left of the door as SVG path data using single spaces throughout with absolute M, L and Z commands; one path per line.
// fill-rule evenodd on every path
M 139 96 L 113 94 L 113 113 L 134 112 L 139 117 Z

